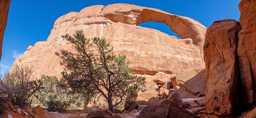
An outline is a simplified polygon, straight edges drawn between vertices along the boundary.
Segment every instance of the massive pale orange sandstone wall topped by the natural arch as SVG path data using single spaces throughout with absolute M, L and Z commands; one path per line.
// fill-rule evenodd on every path
M 136 26 L 150 21 L 166 24 L 182 39 Z M 130 4 L 95 5 L 61 16 L 47 41 L 30 46 L 14 64 L 33 65 L 36 78 L 42 75 L 61 78 L 63 66 L 54 53 L 60 49 L 72 50 L 61 35 L 72 35 L 77 29 L 83 29 L 89 38 L 105 37 L 115 53 L 127 56 L 132 70 L 138 74 L 172 74 L 205 68 L 205 26 L 191 18 Z

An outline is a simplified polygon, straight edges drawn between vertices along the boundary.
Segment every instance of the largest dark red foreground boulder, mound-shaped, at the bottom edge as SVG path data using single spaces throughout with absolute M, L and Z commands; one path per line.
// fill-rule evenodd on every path
M 160 99 L 149 104 L 139 114 L 139 118 L 200 118 L 180 108 L 176 103 Z

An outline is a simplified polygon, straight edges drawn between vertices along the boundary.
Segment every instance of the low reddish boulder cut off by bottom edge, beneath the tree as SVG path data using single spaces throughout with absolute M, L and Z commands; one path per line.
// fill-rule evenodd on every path
M 110 110 L 95 110 L 90 112 L 86 118 L 114 118 Z

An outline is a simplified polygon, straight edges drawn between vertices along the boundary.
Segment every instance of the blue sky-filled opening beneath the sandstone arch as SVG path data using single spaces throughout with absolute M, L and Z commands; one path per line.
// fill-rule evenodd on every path
M 161 31 L 163 33 L 166 33 L 168 35 L 175 36 L 178 39 L 181 39 L 181 37 L 178 36 L 177 33 L 173 32 L 170 29 L 170 27 L 168 27 L 164 23 L 150 21 L 150 22 L 145 22 L 145 23 L 138 24 L 137 26 L 141 26 L 141 27 L 145 27 L 145 28 L 150 28 L 150 29 L 156 29 L 156 30 L 159 30 L 159 31 Z

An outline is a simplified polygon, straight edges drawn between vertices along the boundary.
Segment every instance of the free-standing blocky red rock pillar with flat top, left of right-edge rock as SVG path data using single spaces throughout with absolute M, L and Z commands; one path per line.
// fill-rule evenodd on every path
M 235 20 L 214 22 L 206 31 L 204 58 L 206 65 L 205 104 L 207 112 L 231 115 L 240 106 L 237 60 L 238 32 Z

